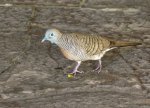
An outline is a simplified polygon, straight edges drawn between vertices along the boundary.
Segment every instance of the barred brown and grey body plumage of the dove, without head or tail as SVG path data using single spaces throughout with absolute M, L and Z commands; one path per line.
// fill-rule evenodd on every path
M 74 61 L 97 60 L 105 50 L 110 49 L 110 41 L 97 35 L 80 33 L 62 34 L 56 43 L 64 53 L 71 53 L 66 58 Z

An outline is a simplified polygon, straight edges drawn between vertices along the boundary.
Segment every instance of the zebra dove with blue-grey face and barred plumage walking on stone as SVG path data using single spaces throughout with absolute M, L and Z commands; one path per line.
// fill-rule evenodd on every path
M 101 58 L 106 52 L 118 47 L 142 44 L 141 42 L 115 41 L 97 34 L 63 33 L 55 28 L 46 31 L 41 42 L 43 43 L 44 41 L 56 44 L 67 59 L 77 63 L 71 74 L 83 73 L 78 68 L 83 61 L 87 60 L 98 60 L 98 66 L 93 71 L 98 71 L 99 73 L 102 68 Z

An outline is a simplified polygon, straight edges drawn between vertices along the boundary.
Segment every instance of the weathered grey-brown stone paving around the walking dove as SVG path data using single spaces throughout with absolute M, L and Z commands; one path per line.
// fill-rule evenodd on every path
M 149 0 L 1 0 L 0 23 L 0 108 L 150 108 Z M 143 44 L 108 52 L 100 74 L 87 61 L 67 78 L 74 62 L 41 44 L 51 27 Z

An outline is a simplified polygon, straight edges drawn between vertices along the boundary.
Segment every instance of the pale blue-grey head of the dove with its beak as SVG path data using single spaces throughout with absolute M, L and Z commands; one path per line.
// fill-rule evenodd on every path
M 42 42 L 50 41 L 51 43 L 57 43 L 57 40 L 61 37 L 62 33 L 57 29 L 48 29 L 45 33 Z

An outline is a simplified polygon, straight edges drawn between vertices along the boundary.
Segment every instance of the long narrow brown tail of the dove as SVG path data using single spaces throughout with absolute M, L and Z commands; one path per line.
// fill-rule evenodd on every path
M 141 42 L 110 41 L 110 47 L 126 47 L 141 45 Z

